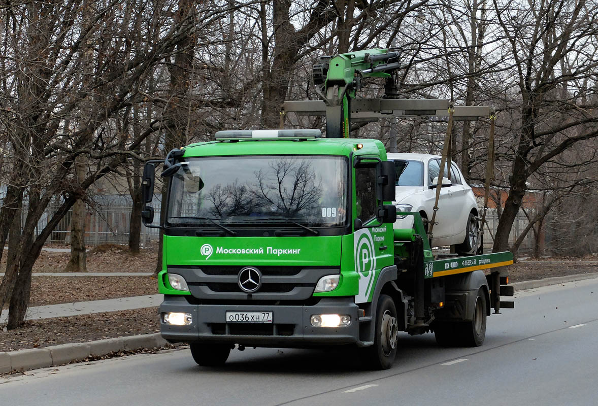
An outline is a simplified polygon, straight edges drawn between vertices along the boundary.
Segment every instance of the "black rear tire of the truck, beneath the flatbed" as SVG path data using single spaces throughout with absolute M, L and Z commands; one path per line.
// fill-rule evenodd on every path
M 436 343 L 443 347 L 479 347 L 486 338 L 486 295 L 480 288 L 475 298 L 473 319 L 468 322 L 434 322 Z

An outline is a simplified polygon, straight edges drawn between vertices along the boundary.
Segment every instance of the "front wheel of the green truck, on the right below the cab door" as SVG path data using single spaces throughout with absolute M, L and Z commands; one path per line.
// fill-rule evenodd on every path
M 376 310 L 374 345 L 362 350 L 365 366 L 374 370 L 388 370 L 396 358 L 398 323 L 395 302 L 388 295 L 380 295 Z

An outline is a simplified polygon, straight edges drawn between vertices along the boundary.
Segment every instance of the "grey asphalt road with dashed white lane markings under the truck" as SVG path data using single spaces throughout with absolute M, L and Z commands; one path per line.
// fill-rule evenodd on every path
M 402 336 L 388 371 L 346 352 L 235 350 L 200 368 L 189 350 L 0 378 L 2 405 L 596 405 L 598 279 L 523 291 L 488 319 L 483 346 L 443 349 Z

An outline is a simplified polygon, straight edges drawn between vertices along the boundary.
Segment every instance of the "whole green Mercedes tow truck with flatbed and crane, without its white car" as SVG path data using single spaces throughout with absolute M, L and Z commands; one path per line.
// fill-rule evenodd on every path
M 361 60 L 349 76 L 390 65 L 365 54 L 348 57 Z M 164 232 L 161 334 L 189 343 L 199 365 L 224 364 L 236 346 L 344 345 L 386 369 L 400 331 L 480 346 L 491 309 L 513 306 L 501 301 L 512 288 L 498 271 L 512 263 L 509 252 L 435 257 L 419 213 L 401 213 L 414 227 L 393 230 L 395 165 L 382 142 L 343 136 L 354 93 L 331 86 L 328 99 L 340 103 L 311 107 L 331 123 L 340 117 L 328 138 L 320 130 L 221 131 L 163 162 L 166 215 L 157 226 L 151 206 L 142 214 Z M 158 164 L 144 169 L 146 203 Z

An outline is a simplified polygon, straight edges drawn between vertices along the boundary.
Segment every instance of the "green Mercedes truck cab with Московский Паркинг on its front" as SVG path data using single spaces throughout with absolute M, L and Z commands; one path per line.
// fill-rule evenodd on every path
M 380 141 L 320 134 L 219 132 L 171 158 L 164 338 L 197 358 L 371 344 L 359 318 L 380 274 L 396 274 L 394 166 Z

